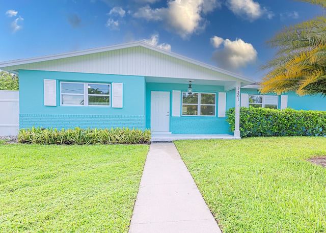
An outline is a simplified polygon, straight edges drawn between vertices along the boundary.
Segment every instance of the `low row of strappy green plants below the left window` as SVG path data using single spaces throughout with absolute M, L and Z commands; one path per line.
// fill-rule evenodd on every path
M 24 128 L 19 131 L 18 142 L 31 144 L 149 144 L 150 130 L 138 130 L 133 128 L 104 128 L 86 130 L 75 127 L 64 128 Z

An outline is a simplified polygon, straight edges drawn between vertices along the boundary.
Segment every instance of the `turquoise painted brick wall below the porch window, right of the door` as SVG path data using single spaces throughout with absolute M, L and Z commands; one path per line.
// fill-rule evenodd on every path
M 171 117 L 170 131 L 174 134 L 230 134 L 225 118 Z

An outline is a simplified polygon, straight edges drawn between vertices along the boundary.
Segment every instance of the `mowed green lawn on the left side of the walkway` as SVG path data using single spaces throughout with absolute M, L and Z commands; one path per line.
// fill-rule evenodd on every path
M 0 143 L 0 232 L 127 232 L 148 148 Z

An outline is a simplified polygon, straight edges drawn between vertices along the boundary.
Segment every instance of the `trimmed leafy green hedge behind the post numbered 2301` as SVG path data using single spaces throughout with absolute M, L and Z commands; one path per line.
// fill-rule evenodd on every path
M 226 116 L 232 132 L 235 109 L 228 109 Z M 240 136 L 326 136 L 326 112 L 241 107 Z

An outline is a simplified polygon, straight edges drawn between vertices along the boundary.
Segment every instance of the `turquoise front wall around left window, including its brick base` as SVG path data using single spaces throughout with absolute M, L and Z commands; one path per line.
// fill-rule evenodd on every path
M 44 106 L 43 80 L 57 81 L 57 106 Z M 123 108 L 60 106 L 60 82 L 123 83 Z M 20 127 L 145 129 L 143 76 L 19 70 Z

